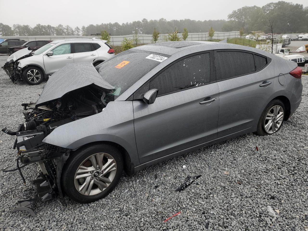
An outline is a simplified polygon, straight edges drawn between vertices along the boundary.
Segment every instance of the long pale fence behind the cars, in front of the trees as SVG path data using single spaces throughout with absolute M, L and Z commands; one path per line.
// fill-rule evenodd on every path
M 182 34 L 179 33 L 178 36 L 182 39 Z M 213 39 L 227 39 L 227 38 L 239 38 L 239 31 L 230 32 L 215 32 Z M 55 40 L 55 39 L 74 39 L 74 38 L 93 38 L 93 36 L 77 36 L 77 35 L 38 35 L 38 36 L 0 36 L 0 39 L 7 38 L 20 38 L 26 41 L 30 40 Z M 99 39 L 99 37 L 96 37 Z M 111 36 L 111 46 L 120 46 L 124 38 L 133 39 L 133 34 L 130 35 L 120 35 Z M 160 34 L 157 43 L 167 41 L 168 34 Z M 138 34 L 138 39 L 140 43 L 153 43 L 152 34 Z M 209 33 L 188 33 L 186 41 L 203 41 L 208 40 Z

